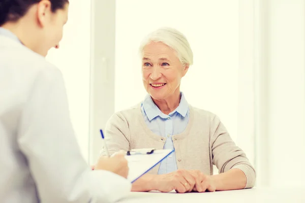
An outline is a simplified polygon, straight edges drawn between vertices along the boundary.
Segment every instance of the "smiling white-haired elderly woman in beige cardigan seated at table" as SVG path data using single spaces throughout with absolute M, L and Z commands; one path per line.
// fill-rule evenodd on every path
M 186 37 L 172 28 L 158 29 L 143 41 L 140 54 L 148 95 L 109 119 L 109 151 L 156 148 L 175 152 L 139 178 L 132 190 L 183 193 L 253 187 L 255 170 L 220 119 L 192 107 L 180 92 L 181 78 L 193 64 Z M 213 175 L 213 164 L 218 175 Z

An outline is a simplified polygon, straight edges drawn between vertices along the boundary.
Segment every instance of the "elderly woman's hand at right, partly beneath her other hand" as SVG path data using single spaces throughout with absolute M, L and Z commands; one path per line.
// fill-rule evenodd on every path
M 216 191 L 216 185 L 211 176 L 205 175 L 198 170 L 190 171 L 190 173 L 194 178 L 198 179 L 195 187 L 193 188 L 194 192 Z M 200 184 L 197 184 L 197 182 L 200 182 Z

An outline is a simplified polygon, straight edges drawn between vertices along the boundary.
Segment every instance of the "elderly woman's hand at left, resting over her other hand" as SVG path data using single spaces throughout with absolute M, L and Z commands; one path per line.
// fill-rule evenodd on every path
M 160 192 L 176 190 L 178 193 L 191 192 L 195 185 L 200 185 L 199 178 L 194 178 L 190 171 L 177 170 L 169 174 L 158 175 L 155 183 Z

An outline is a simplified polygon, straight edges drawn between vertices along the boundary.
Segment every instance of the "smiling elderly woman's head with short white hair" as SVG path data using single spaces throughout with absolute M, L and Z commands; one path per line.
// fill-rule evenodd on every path
M 189 47 L 182 33 L 168 27 L 150 33 L 143 40 L 140 46 L 143 84 L 155 103 L 165 98 L 179 100 L 181 78 L 193 64 L 193 52 Z M 178 107 L 178 104 L 173 106 Z M 172 110 L 164 109 L 163 112 L 169 114 Z

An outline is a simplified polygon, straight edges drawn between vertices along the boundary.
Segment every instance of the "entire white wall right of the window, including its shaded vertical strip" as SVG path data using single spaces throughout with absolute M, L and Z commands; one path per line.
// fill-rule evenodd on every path
M 305 3 L 256 3 L 258 186 L 304 185 Z

